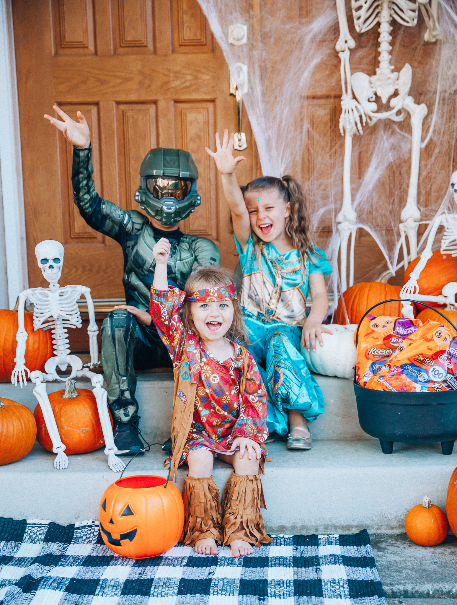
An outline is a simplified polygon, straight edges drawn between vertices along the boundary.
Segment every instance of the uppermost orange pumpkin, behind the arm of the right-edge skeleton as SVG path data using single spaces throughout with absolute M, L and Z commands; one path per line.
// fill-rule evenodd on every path
M 409 280 L 410 274 L 416 264 L 420 261 L 420 257 L 415 258 L 409 263 L 404 272 L 404 283 Z M 428 296 L 439 296 L 446 284 L 450 281 L 455 281 L 457 275 L 457 257 L 452 257 L 450 254 L 442 255 L 439 250 L 435 250 L 433 255 L 427 261 L 426 266 L 421 271 L 421 275 L 417 280 L 419 293 Z M 419 309 L 426 309 L 421 304 L 416 303 Z M 432 307 L 438 307 L 434 302 L 427 302 Z

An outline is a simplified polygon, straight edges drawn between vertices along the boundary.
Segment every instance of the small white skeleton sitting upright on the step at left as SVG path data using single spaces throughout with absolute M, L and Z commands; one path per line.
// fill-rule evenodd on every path
M 94 396 L 102 425 L 103 437 L 105 438 L 105 454 L 108 456 L 108 466 L 114 473 L 122 471 L 124 463 L 115 456 L 117 448 L 114 445 L 111 422 L 109 420 L 108 407 L 106 405 L 107 393 L 102 388 L 103 376 L 91 372 L 89 368 L 83 367 L 82 361 L 76 355 L 71 355 L 68 348 L 67 327 L 80 328 L 81 317 L 76 301 L 85 296 L 89 312 L 89 349 L 91 352 L 90 367 L 99 365 L 99 347 L 97 334 L 99 329 L 95 321 L 94 304 L 91 299 L 91 290 L 85 286 L 64 286 L 61 288 L 57 281 L 62 273 L 63 254 L 65 250 L 62 244 L 54 240 L 45 240 L 37 244 L 35 255 L 38 266 L 42 270 L 45 279 L 49 282 L 49 288 L 30 288 L 19 295 L 19 329 L 16 334 L 18 346 L 16 347 L 16 366 L 11 374 L 11 382 L 17 385 L 27 384 L 26 373 L 35 383 L 33 394 L 37 398 L 46 423 L 46 428 L 53 442 L 53 452 L 57 454 L 54 460 L 54 468 L 63 469 L 68 466 L 68 457 L 65 454 L 65 445 L 59 436 L 56 420 L 51 409 L 51 404 L 46 391 L 46 381 L 66 382 L 74 378 L 88 378 L 92 382 Z M 51 357 L 45 364 L 46 374 L 41 371 L 30 371 L 25 367 L 25 341 L 27 332 L 24 329 L 24 306 L 26 299 L 33 302 L 33 327 L 35 330 L 52 330 L 53 348 L 55 357 Z M 71 374 L 63 378 L 57 374 L 56 369 L 66 370 L 71 365 Z

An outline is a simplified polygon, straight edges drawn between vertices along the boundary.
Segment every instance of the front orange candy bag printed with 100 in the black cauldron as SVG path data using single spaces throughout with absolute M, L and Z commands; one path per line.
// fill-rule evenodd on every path
M 401 350 L 392 353 L 365 387 L 397 393 L 457 390 L 457 339 L 453 336 L 439 322 L 427 320 L 404 339 Z

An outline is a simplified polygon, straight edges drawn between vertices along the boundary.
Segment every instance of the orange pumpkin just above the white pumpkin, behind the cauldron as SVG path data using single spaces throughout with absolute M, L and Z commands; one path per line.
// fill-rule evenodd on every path
M 343 307 L 343 299 L 348 313 L 349 324 L 358 324 L 360 319 L 370 307 L 377 302 L 388 300 L 389 298 L 400 298 L 400 286 L 391 286 L 379 281 L 361 281 L 354 284 L 342 293 L 338 301 L 338 307 L 333 318 L 334 324 L 345 325 L 346 314 Z M 400 317 L 403 305 L 401 302 L 388 302 L 380 305 L 373 310 L 374 315 L 390 315 Z

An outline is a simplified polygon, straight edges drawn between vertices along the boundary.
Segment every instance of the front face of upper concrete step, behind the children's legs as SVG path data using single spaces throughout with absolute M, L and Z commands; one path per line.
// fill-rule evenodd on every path
M 346 378 L 320 376 L 314 378 L 319 382 L 325 400 L 325 412 L 310 423 L 313 440 L 336 439 L 356 440 L 372 439 L 358 424 L 357 405 L 355 404 L 352 381 Z M 0 384 L 0 397 L 13 399 L 27 405 L 33 411 L 37 401 L 33 395 L 33 384 L 30 381 L 23 388 L 11 383 Z M 106 388 L 105 382 L 105 388 Z M 50 382 L 48 393 L 62 389 L 62 384 Z M 89 381 L 78 381 L 77 388 L 92 388 Z M 170 436 L 173 406 L 173 374 L 142 373 L 138 375 L 136 397 L 140 405 L 141 432 L 144 437 L 153 441 L 168 439 Z

